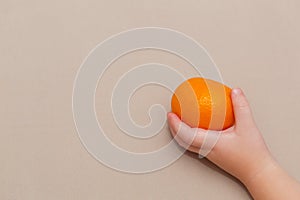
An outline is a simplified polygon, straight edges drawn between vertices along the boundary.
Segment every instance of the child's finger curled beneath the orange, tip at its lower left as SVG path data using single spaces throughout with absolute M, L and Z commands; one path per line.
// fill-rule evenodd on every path
M 179 137 L 184 143 L 193 145 L 197 148 L 201 147 L 205 138 L 206 130 L 189 127 L 174 113 L 168 113 L 168 122 L 170 129 L 176 133 L 177 137 Z

